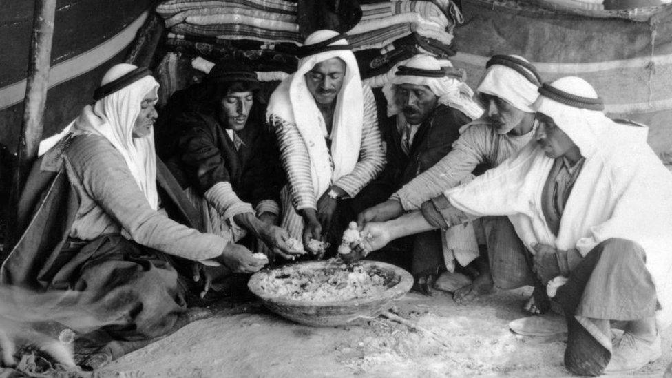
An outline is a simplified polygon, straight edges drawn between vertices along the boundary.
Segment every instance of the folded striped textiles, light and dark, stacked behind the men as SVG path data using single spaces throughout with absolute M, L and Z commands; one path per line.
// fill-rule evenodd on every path
M 449 46 L 462 16 L 451 0 L 359 3 L 362 17 L 347 32 L 348 41 L 362 78 L 372 87 L 387 83 L 414 54 L 454 54 Z M 296 70 L 296 49 L 308 34 L 297 23 L 302 6 L 296 0 L 166 0 L 156 12 L 165 19 L 166 46 L 172 52 L 245 61 L 258 72 Z

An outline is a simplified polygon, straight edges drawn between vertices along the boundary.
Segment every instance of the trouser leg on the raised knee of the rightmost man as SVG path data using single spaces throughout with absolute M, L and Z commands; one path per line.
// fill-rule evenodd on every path
M 576 375 L 600 375 L 611 359 L 610 321 L 655 315 L 657 300 L 644 249 L 612 238 L 592 249 L 558 288 L 569 335 L 565 366 Z

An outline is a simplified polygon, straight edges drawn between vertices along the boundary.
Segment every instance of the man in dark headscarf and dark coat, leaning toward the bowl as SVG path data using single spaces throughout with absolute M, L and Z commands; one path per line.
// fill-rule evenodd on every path
M 275 137 L 264 125 L 265 109 L 255 100 L 259 87 L 246 65 L 217 63 L 192 91 L 200 93 L 187 99 L 189 106 L 167 120 L 174 141 L 161 155 L 207 213 L 209 232 L 236 242 L 251 233 L 275 255 L 291 258 L 298 251 L 286 244 L 287 231 L 275 225 L 284 174 Z

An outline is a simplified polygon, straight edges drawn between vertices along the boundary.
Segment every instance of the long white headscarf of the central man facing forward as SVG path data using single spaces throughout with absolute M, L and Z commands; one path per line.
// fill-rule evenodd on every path
M 337 32 L 319 30 L 308 36 L 306 45 L 326 41 Z M 345 39 L 331 45 L 346 45 Z M 331 151 L 326 145 L 326 124 L 315 99 L 306 86 L 304 74 L 315 64 L 332 58 L 346 63 L 343 87 L 336 99 Z M 294 123 L 308 149 L 315 198 L 322 196 L 331 183 L 350 174 L 359 160 L 361 125 L 364 119 L 364 95 L 355 55 L 350 50 L 319 52 L 299 61 L 297 72 L 285 78 L 271 95 L 267 117 Z M 333 161 L 333 166 L 332 166 Z

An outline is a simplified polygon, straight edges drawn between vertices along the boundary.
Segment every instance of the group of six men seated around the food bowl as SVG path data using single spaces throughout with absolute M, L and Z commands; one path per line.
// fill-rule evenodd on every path
M 493 286 L 535 286 L 536 311 L 554 297 L 577 375 L 660 357 L 672 175 L 647 128 L 607 118 L 589 83 L 544 83 L 522 57 L 496 55 L 474 95 L 448 61 L 418 55 L 384 87 L 379 122 L 346 37 L 320 30 L 266 107 L 259 90 L 249 67 L 218 63 L 169 102 L 156 151 L 158 82 L 112 67 L 32 171 L 1 282 L 76 291 L 70 302 L 115 324 L 109 335 L 154 337 L 190 291 L 261 269 L 252 251 L 293 260 L 296 238 L 333 253 L 357 220 L 348 260 L 400 255 L 419 288 L 463 271 L 458 302 Z

